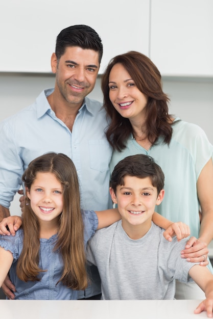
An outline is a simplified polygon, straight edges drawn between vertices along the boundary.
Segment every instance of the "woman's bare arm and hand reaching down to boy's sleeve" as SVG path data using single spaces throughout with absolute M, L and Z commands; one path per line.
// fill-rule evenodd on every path
M 187 247 L 182 251 L 182 257 L 187 261 L 201 262 L 207 265 L 207 246 L 213 237 L 213 164 L 212 159 L 206 163 L 197 181 L 197 194 L 201 206 L 201 224 L 198 240 L 190 238 Z

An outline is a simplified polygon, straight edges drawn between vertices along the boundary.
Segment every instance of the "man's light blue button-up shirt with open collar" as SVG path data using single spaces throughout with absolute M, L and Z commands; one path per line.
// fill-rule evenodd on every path
M 77 169 L 82 209 L 110 206 L 111 147 L 105 137 L 107 121 L 102 104 L 85 98 L 71 132 L 56 117 L 43 91 L 30 107 L 4 120 L 0 126 L 0 204 L 10 206 L 29 163 L 46 152 L 69 156 Z

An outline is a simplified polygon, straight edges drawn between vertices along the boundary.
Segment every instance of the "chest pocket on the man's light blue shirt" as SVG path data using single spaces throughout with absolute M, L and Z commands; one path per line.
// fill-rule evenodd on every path
M 105 172 L 109 170 L 112 148 L 106 140 L 89 140 L 90 168 Z

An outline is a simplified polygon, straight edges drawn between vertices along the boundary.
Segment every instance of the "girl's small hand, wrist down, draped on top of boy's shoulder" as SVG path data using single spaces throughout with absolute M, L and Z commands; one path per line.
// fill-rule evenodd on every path
M 177 236 L 178 242 L 190 235 L 190 227 L 182 222 L 176 222 L 169 225 L 169 227 L 163 232 L 163 236 L 169 242 L 172 241 L 173 236 Z

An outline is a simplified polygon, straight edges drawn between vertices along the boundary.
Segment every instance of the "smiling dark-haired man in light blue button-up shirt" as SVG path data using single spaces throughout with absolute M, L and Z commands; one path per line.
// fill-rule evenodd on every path
M 51 58 L 55 88 L 44 90 L 30 107 L 1 123 L 0 221 L 10 215 L 10 202 L 20 188 L 23 171 L 32 159 L 49 151 L 72 158 L 83 209 L 109 208 L 112 150 L 105 138 L 105 112 L 100 102 L 86 97 L 96 83 L 102 54 L 101 39 L 89 26 L 62 30 Z M 100 298 L 99 275 L 96 271 L 92 274 L 94 284 L 80 299 Z M 8 286 L 15 289 L 11 283 Z M 3 289 L 9 299 L 14 298 L 6 285 Z

